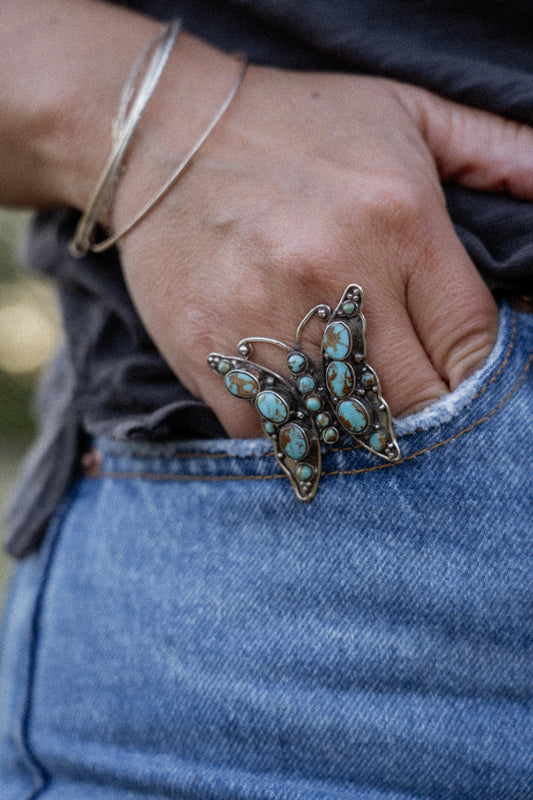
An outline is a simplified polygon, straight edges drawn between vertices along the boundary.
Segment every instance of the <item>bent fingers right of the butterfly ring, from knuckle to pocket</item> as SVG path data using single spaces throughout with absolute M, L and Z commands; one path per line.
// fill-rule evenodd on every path
M 366 284 L 369 363 L 395 416 L 424 408 L 475 372 L 498 326 L 496 303 L 436 197 L 403 205 L 394 214 L 403 213 L 399 246 L 388 242 Z M 387 243 L 385 231 L 380 238 Z

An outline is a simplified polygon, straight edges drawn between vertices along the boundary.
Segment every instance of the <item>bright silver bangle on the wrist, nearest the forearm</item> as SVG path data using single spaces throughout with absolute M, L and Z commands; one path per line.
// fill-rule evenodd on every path
M 82 214 L 74 236 L 68 245 L 70 253 L 76 258 L 81 258 L 89 250 L 100 252 L 96 250 L 98 245 L 95 246 L 92 242 L 94 229 L 109 206 L 126 149 L 146 104 L 157 86 L 180 29 L 181 20 L 179 19 L 165 25 L 157 36 L 148 42 L 133 64 L 122 89 L 117 116 L 113 122 L 111 153 L 98 179 L 89 205 Z M 135 90 L 139 75 L 147 61 L 143 79 L 138 89 Z

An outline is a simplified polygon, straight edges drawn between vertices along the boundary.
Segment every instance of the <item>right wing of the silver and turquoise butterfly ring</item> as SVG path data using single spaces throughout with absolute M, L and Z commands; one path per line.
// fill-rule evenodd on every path
M 378 376 L 366 363 L 364 296 L 357 284 L 346 287 L 322 340 L 324 386 L 336 426 L 382 458 L 401 459 L 390 409 Z

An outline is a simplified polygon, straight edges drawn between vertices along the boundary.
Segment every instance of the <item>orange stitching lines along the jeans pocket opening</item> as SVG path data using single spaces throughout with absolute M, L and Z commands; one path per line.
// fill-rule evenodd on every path
M 507 363 L 509 361 L 509 357 L 510 357 L 511 351 L 512 351 L 513 346 L 514 346 L 514 331 L 515 331 L 515 328 L 513 328 L 513 334 L 511 336 L 511 341 L 509 343 L 509 348 L 507 350 L 507 353 L 506 353 L 506 356 L 505 356 L 505 359 L 504 359 L 503 363 L 501 364 L 501 366 L 498 369 L 498 371 L 490 378 L 489 381 L 487 381 L 485 386 L 483 386 L 477 392 L 475 397 L 479 397 L 481 394 L 483 394 L 487 390 L 488 386 L 496 379 L 496 377 L 498 375 L 500 375 L 502 373 L 502 371 L 506 367 L 506 365 L 507 365 Z M 449 437 L 447 437 L 446 439 L 443 439 L 440 442 L 436 442 L 435 444 L 430 445 L 429 447 L 425 447 L 422 450 L 417 450 L 416 453 L 411 453 L 411 455 L 406 456 L 405 458 L 403 458 L 400 463 L 403 464 L 403 463 L 405 463 L 407 461 L 411 461 L 412 459 L 417 458 L 418 456 L 424 455 L 425 453 L 429 453 L 432 450 L 436 450 L 436 449 L 438 449 L 440 447 L 443 447 L 444 445 L 449 444 L 450 442 L 455 441 L 456 439 L 459 439 L 461 436 L 464 436 L 465 434 L 469 433 L 471 430 L 476 428 L 478 425 L 481 425 L 483 422 L 486 422 L 488 419 L 490 419 L 500 408 L 502 408 L 502 406 L 505 405 L 505 403 L 507 403 L 507 401 L 513 396 L 513 394 L 516 391 L 518 391 L 518 389 L 520 388 L 521 384 L 525 380 L 526 375 L 529 372 L 529 369 L 530 369 L 532 363 L 533 363 L 533 349 L 532 349 L 532 351 L 530 353 L 529 359 L 527 360 L 527 362 L 526 362 L 526 364 L 524 366 L 523 372 L 522 372 L 520 378 L 518 379 L 518 381 L 515 383 L 515 385 L 512 387 L 512 389 L 505 395 L 505 397 L 502 400 L 500 400 L 500 402 L 496 406 L 494 406 L 487 414 L 485 414 L 485 416 L 480 417 L 475 422 L 471 423 L 466 428 L 463 428 L 463 430 L 459 431 L 458 433 L 454 433 L 452 436 L 449 436 Z M 411 435 L 411 434 L 407 434 L 407 435 Z M 347 452 L 347 451 L 351 452 L 351 451 L 356 450 L 356 449 L 361 449 L 361 447 L 360 446 L 356 446 L 356 447 L 337 448 L 336 450 L 332 450 L 330 452 Z M 110 455 L 113 456 L 113 453 L 110 453 Z M 273 457 L 273 455 L 274 455 L 273 453 L 265 453 L 265 455 L 261 456 L 261 458 L 265 458 L 267 456 L 268 457 Z M 176 457 L 176 456 L 180 457 L 180 458 L 196 458 L 198 456 L 203 457 L 203 458 L 211 458 L 211 457 L 227 458 L 227 459 L 233 459 L 234 458 L 234 456 L 231 456 L 231 455 L 226 454 L 226 453 L 216 453 L 216 454 L 213 454 L 212 456 L 210 456 L 209 453 L 199 453 L 198 455 L 196 455 L 195 453 L 183 453 L 183 454 L 175 454 L 173 457 Z M 251 457 L 254 457 L 254 456 L 253 455 L 242 456 L 242 458 L 251 458 Z M 375 472 L 376 470 L 388 469 L 390 467 L 396 467 L 396 466 L 399 466 L 399 464 L 391 464 L 391 463 L 376 464 L 376 465 L 374 465 L 372 467 L 360 467 L 358 469 L 352 469 L 352 470 L 332 470 L 330 472 L 323 472 L 322 475 L 326 475 L 326 476 L 327 475 L 329 475 L 329 476 L 332 476 L 332 475 L 361 475 L 361 474 L 363 474 L 365 472 Z M 131 472 L 126 472 L 126 471 L 120 471 L 120 470 L 105 470 L 105 469 L 103 469 L 103 470 L 100 470 L 96 475 L 91 476 L 91 477 L 94 477 L 94 478 L 117 478 L 117 479 L 118 478 L 140 478 L 140 479 L 158 480 L 158 481 L 168 480 L 168 481 L 183 481 L 183 482 L 187 482 L 187 481 L 209 481 L 209 482 L 211 482 L 211 481 L 227 481 L 227 480 L 274 480 L 274 479 L 278 479 L 278 478 L 284 478 L 285 476 L 283 474 L 281 474 L 281 473 L 280 474 L 271 474 L 271 475 L 173 475 L 171 473 L 143 472 L 143 471 L 140 471 L 140 470 L 139 471 L 132 470 Z

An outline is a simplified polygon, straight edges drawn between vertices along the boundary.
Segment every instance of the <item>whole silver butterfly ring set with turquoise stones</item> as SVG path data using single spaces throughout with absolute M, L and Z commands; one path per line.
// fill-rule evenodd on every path
M 238 356 L 210 353 L 207 358 L 228 391 L 258 410 L 263 430 L 274 443 L 276 460 L 299 500 L 315 496 L 322 443 L 335 444 L 341 434 L 387 461 L 401 460 L 379 378 L 366 363 L 363 306 L 363 290 L 351 283 L 333 310 L 322 303 L 305 315 L 294 347 L 252 336 L 239 342 Z M 304 326 L 315 316 L 326 323 L 320 368 L 300 344 Z M 253 344 L 258 342 L 287 351 L 288 379 L 250 360 Z

